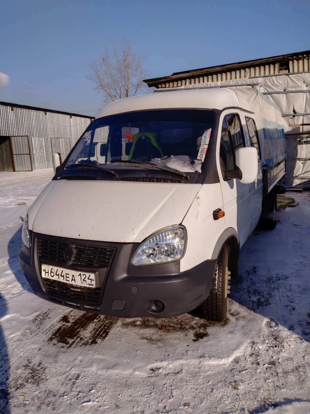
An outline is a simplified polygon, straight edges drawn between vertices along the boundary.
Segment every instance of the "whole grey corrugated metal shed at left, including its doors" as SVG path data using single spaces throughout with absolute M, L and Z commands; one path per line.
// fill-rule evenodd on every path
M 0 102 L 0 171 L 52 168 L 51 154 L 60 152 L 65 159 L 93 119 Z

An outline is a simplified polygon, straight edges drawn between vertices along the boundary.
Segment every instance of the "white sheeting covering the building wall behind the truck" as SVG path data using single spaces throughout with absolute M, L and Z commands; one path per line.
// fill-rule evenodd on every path
M 287 149 L 286 174 L 283 183 L 287 186 L 309 185 L 310 126 L 298 124 L 310 124 L 310 72 L 207 82 L 173 89 L 240 85 L 239 89 L 248 87 L 248 84 L 253 84 L 253 87 L 281 110 Z M 236 87 L 231 89 L 237 91 Z

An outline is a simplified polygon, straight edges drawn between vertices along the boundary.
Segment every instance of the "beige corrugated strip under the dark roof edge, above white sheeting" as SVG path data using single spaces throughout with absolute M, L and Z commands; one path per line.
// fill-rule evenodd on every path
M 246 69 L 232 70 L 230 72 L 221 72 L 215 75 L 201 76 L 201 77 L 188 77 L 186 79 L 179 79 L 174 82 L 167 82 L 158 84 L 159 88 L 172 88 L 178 86 L 187 86 L 198 83 L 206 82 L 222 82 L 231 79 L 242 79 L 255 76 L 277 75 L 279 73 L 292 73 L 292 72 L 308 72 L 309 70 L 309 57 L 305 56 L 303 59 L 290 60 L 289 71 L 281 70 L 279 63 L 274 65 L 263 65 L 256 67 L 248 67 Z

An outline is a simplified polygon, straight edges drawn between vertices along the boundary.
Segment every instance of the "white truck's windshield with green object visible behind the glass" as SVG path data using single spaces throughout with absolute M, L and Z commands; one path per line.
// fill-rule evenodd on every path
M 212 111 L 192 109 L 100 118 L 81 137 L 65 168 L 76 164 L 106 168 L 113 164 L 111 168 L 115 168 L 117 163 L 137 162 L 138 166 L 143 162 L 181 172 L 201 172 L 212 123 Z

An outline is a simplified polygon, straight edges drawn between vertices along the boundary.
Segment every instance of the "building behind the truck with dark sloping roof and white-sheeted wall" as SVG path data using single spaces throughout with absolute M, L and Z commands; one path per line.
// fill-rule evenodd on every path
M 255 87 L 279 106 L 286 137 L 284 184 L 310 185 L 310 51 L 176 72 L 145 79 L 157 91 L 195 87 Z

